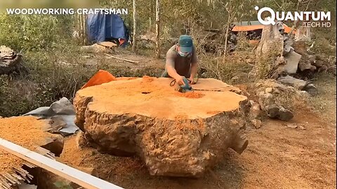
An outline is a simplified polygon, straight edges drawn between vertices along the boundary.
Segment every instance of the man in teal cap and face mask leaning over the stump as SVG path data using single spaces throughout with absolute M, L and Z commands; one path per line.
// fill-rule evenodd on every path
M 197 52 L 193 45 L 192 37 L 182 35 L 178 44 L 173 45 L 166 53 L 165 71 L 162 77 L 176 79 L 178 85 L 184 85 L 183 78 L 195 83 L 194 77 L 198 70 Z

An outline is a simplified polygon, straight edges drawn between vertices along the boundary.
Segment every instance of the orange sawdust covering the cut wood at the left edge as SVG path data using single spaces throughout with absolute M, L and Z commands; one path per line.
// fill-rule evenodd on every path
M 52 134 L 45 132 L 46 123 L 31 116 L 0 118 L 0 138 L 11 141 L 31 151 L 44 144 Z M 24 160 L 0 150 L 0 174 L 20 168 Z

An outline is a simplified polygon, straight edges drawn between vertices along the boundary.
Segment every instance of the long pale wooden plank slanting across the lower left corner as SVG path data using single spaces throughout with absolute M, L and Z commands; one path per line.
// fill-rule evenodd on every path
M 81 172 L 78 169 L 74 169 L 50 158 L 46 158 L 44 155 L 40 155 L 39 153 L 29 151 L 28 149 L 23 148 L 22 146 L 18 146 L 16 144 L 11 143 L 10 141 L 6 141 L 1 138 L 0 138 L 0 148 L 2 148 L 4 151 L 7 151 L 8 153 L 12 153 L 13 155 L 18 156 L 18 158 L 22 158 L 27 162 L 31 162 L 32 164 L 37 165 L 38 167 L 46 169 L 49 172 L 53 172 L 58 176 L 62 176 L 63 178 L 68 179 L 69 181 L 77 183 L 79 186 L 82 186 L 84 188 L 88 189 L 121 188 L 107 181 L 98 179 L 95 176 L 91 176 L 90 174 Z

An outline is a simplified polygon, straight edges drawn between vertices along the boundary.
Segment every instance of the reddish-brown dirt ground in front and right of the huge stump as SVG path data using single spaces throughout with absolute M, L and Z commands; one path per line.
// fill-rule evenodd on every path
M 79 151 L 74 137 L 65 153 L 81 155 L 67 163 L 95 167 L 100 178 L 124 188 L 336 188 L 336 78 L 322 76 L 315 84 L 321 92 L 309 99 L 314 109 L 296 111 L 289 123 L 267 119 L 260 129 L 248 129 L 246 151 L 228 150 L 201 179 L 149 176 L 137 158 Z M 291 124 L 302 127 L 286 127 Z

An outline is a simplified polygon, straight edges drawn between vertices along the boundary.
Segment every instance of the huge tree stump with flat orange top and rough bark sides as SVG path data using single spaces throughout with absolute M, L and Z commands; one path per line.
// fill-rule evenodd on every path
M 117 78 L 79 90 L 76 124 L 101 151 L 138 155 L 152 175 L 197 177 L 227 148 L 242 153 L 246 97 L 220 80 L 199 79 L 189 93 L 171 80 Z

